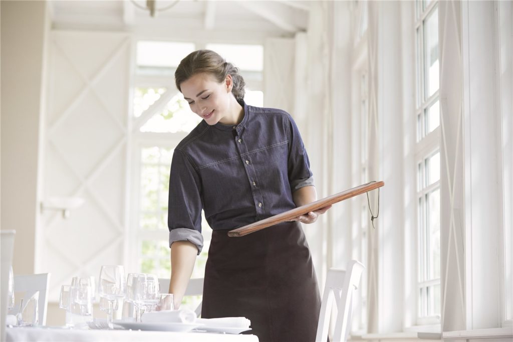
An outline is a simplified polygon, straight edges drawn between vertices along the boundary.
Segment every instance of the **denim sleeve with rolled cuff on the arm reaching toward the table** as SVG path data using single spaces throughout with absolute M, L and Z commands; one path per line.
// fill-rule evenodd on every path
M 203 249 L 201 234 L 201 179 L 185 153 L 175 149 L 169 175 L 168 227 L 169 246 L 175 241 L 189 241 Z

